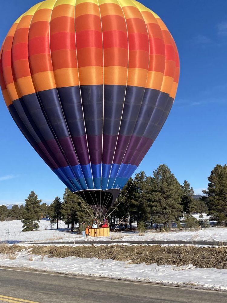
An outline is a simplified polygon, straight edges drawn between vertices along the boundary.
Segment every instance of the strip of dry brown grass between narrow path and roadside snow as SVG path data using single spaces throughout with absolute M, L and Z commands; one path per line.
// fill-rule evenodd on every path
M 227 248 L 198 248 L 195 246 L 32 246 L 30 253 L 48 255 L 51 257 L 79 257 L 113 259 L 130 261 L 133 264 L 146 263 L 147 265 L 188 265 L 193 264 L 200 268 L 227 269 Z

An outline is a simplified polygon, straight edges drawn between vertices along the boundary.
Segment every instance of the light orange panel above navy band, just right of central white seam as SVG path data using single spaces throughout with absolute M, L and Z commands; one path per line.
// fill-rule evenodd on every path
M 127 68 L 121 66 L 110 66 L 104 68 L 104 84 L 126 85 Z

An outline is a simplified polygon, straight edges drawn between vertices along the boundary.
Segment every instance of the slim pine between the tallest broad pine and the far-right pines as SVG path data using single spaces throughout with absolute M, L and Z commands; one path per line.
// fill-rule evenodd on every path
M 198 203 L 193 198 L 194 190 L 193 187 L 190 187 L 188 181 L 184 181 L 184 184 L 181 186 L 183 195 L 181 198 L 181 204 L 183 205 L 183 212 L 190 214 L 192 212 L 198 212 Z

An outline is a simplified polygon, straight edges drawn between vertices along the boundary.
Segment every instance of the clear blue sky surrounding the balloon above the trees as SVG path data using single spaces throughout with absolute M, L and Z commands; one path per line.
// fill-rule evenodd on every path
M 1 3 L 0 43 L 35 0 Z M 151 175 L 166 164 L 182 184 L 201 193 L 207 177 L 227 158 L 227 2 L 141 0 L 163 19 L 178 47 L 181 72 L 175 103 L 138 172 Z M 0 205 L 24 203 L 34 190 L 48 204 L 65 185 L 48 168 L 13 122 L 0 95 Z

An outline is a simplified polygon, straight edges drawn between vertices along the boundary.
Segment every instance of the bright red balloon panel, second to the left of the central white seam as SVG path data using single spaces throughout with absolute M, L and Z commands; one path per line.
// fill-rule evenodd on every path
M 75 33 L 55 33 L 50 36 L 51 52 L 59 49 L 76 49 Z

